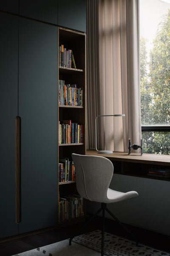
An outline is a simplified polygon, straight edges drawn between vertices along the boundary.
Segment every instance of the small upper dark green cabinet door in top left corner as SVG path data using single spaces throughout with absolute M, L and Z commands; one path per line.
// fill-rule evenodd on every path
M 1 0 L 0 10 L 18 14 L 19 0 Z

